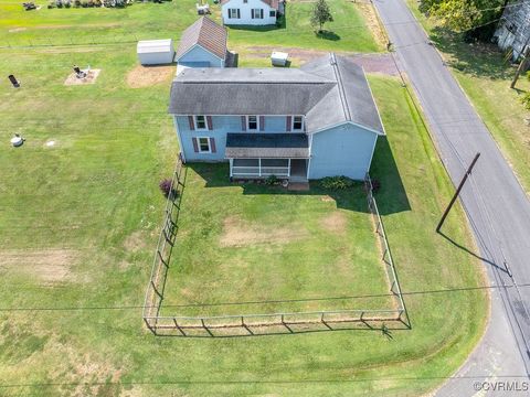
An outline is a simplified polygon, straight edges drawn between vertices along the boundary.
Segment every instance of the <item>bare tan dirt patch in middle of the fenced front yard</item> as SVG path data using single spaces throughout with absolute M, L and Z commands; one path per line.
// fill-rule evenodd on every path
M 274 227 L 250 224 L 236 216 L 229 216 L 223 223 L 220 239 L 222 247 L 241 247 L 255 244 L 286 244 L 306 237 L 307 230 L 293 225 Z

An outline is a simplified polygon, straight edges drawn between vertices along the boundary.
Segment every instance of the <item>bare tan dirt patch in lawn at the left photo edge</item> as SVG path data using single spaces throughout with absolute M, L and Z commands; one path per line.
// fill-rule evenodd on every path
M 66 281 L 78 256 L 72 249 L 1 250 L 0 272 L 21 272 L 44 283 Z

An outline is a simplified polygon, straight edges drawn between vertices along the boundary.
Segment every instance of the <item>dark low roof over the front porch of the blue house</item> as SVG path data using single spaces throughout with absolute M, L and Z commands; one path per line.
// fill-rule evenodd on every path
M 227 159 L 307 159 L 309 139 L 306 133 L 240 133 L 226 135 Z

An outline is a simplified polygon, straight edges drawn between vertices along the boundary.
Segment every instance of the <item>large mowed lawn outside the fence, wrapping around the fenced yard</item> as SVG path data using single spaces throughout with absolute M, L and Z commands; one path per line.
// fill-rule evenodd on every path
M 96 84 L 64 86 L 74 62 L 100 68 Z M 402 288 L 415 292 L 405 296 L 412 330 L 392 337 L 341 331 L 214 340 L 147 332 L 140 307 L 162 219 L 158 182 L 172 172 L 178 147 L 166 115 L 170 77 L 129 88 L 126 76 L 136 63 L 128 47 L 1 52 L 0 75 L 15 69 L 22 82 L 20 89 L 0 85 L 2 396 L 411 396 L 439 385 L 464 362 L 487 318 L 486 292 L 473 289 L 484 282 L 480 266 L 435 234 L 453 187 L 410 98 L 398 81 L 381 76 L 370 83 L 388 138 L 378 143 L 372 176 L 381 181 L 377 198 Z M 26 138 L 22 148 L 10 147 L 13 132 Z M 333 210 L 317 196 L 267 198 L 237 185 L 204 191 L 230 208 L 233 196 L 223 202 L 221 193 L 233 189 L 241 200 L 292 206 L 295 198 L 315 200 L 322 215 Z M 198 240 L 212 233 L 208 218 L 201 214 L 192 228 Z M 319 221 L 304 223 L 310 228 Z M 474 249 L 459 208 L 444 227 Z M 308 233 L 328 237 L 320 228 Z M 204 254 L 210 260 L 212 253 Z M 294 266 L 303 262 L 315 266 L 310 257 Z M 23 308 L 53 310 L 11 310 Z

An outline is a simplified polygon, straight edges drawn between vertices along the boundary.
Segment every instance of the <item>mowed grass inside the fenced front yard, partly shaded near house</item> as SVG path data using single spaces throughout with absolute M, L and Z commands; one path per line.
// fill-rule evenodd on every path
M 188 168 L 163 314 L 395 309 L 362 183 L 296 193 L 227 180 L 227 164 Z

